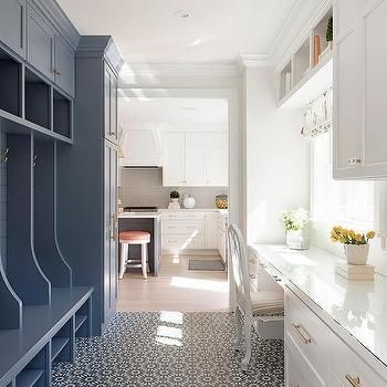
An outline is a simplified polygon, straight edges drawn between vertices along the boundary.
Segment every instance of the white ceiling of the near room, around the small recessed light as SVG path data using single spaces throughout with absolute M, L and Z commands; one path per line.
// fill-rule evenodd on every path
M 127 63 L 234 63 L 239 53 L 269 53 L 296 1 L 57 0 L 81 34 L 113 35 Z

